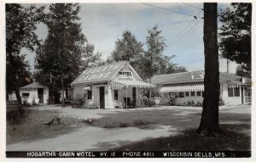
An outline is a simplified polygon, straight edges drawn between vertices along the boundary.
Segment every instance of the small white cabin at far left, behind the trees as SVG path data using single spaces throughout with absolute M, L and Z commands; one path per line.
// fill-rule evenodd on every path
M 38 99 L 39 103 L 47 103 L 49 98 L 49 88 L 44 85 L 33 82 L 25 87 L 20 87 L 20 97 L 22 99 Z

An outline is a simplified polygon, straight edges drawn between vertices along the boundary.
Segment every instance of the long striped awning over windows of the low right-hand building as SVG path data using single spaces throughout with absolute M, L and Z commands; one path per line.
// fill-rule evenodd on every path
M 160 88 L 160 92 L 192 92 L 204 91 L 204 89 L 203 82 L 190 82 L 164 85 Z

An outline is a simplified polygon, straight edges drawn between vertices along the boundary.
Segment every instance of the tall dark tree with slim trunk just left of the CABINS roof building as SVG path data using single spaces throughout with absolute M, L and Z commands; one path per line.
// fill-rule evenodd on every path
M 79 74 L 84 42 L 87 42 L 79 23 L 79 11 L 77 3 L 50 4 L 46 20 L 48 36 L 44 46 L 38 48 L 36 58 L 38 69 L 61 78 L 62 107 L 65 106 L 64 79 L 67 85 L 71 76 Z

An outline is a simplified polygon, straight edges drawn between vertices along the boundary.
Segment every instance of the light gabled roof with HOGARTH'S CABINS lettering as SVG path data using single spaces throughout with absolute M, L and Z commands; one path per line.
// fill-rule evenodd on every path
M 112 80 L 113 75 L 115 75 L 125 64 L 128 64 L 131 67 L 128 62 L 120 61 L 113 64 L 105 64 L 102 66 L 88 68 L 84 70 L 79 77 L 71 83 L 71 85 L 110 81 Z M 132 67 L 131 69 L 133 70 Z

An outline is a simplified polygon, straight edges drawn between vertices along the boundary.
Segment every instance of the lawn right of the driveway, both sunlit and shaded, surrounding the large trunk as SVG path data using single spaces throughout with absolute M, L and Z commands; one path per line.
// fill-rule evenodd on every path
M 195 131 L 201 120 L 201 110 L 153 109 L 121 112 L 92 120 L 91 126 L 103 128 L 138 127 L 154 129 L 173 126 L 178 135 L 133 142 L 116 151 L 248 151 L 251 150 L 251 116 L 247 114 L 219 113 L 224 137 L 200 137 Z

